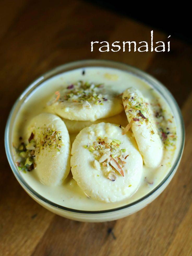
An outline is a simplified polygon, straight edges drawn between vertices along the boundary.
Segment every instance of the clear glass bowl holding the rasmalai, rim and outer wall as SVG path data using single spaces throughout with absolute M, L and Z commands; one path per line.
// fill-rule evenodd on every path
M 142 80 L 145 80 L 147 83 L 149 83 L 155 90 L 159 92 L 159 94 L 164 98 L 164 100 L 167 102 L 169 107 L 172 110 L 172 113 L 175 118 L 176 126 L 177 126 L 177 137 L 178 137 L 178 143 L 177 143 L 177 149 L 176 149 L 176 157 L 173 162 L 172 167 L 170 168 L 169 173 L 167 176 L 163 179 L 163 181 L 155 187 L 150 193 L 143 196 L 139 200 L 136 200 L 132 203 L 129 203 L 128 205 L 124 205 L 122 207 L 113 208 L 110 210 L 101 210 L 101 211 L 82 211 L 82 210 L 75 210 L 70 209 L 61 205 L 57 205 L 54 202 L 51 202 L 47 200 L 46 198 L 39 195 L 36 191 L 33 190 L 32 187 L 30 187 L 26 181 L 23 179 L 21 174 L 19 173 L 17 166 L 15 164 L 14 158 L 13 158 L 13 150 L 12 150 L 12 132 L 13 132 L 13 125 L 16 118 L 16 115 L 21 107 L 21 105 L 25 102 L 25 99 L 28 97 L 28 95 L 35 89 L 37 86 L 39 86 L 41 83 L 43 83 L 45 80 L 72 70 L 76 68 L 85 68 L 85 67 L 110 67 L 110 68 L 116 68 L 120 69 L 129 73 L 132 73 L 136 75 L 137 77 L 141 78 Z M 50 210 L 53 213 L 56 213 L 60 216 L 63 216 L 65 218 L 78 220 L 78 221 L 84 221 L 84 222 L 104 222 L 104 221 L 111 221 L 116 220 L 119 218 L 126 217 L 134 212 L 139 211 L 146 205 L 148 205 L 150 202 L 152 202 L 158 195 L 161 194 L 161 192 L 167 187 L 171 179 L 173 178 L 177 167 L 179 165 L 179 162 L 181 160 L 182 152 L 184 147 L 184 124 L 183 124 L 183 118 L 181 111 L 177 105 L 177 102 L 175 101 L 174 97 L 171 95 L 169 90 L 165 88 L 164 85 L 162 85 L 158 80 L 153 78 L 151 75 L 148 75 L 147 73 L 135 68 L 131 67 L 127 64 L 123 64 L 120 62 L 114 62 L 114 61 L 107 61 L 107 60 L 82 60 L 82 61 L 76 61 L 76 62 L 70 62 L 64 65 L 61 65 L 59 67 L 56 67 L 47 73 L 41 75 L 39 78 L 37 78 L 34 82 L 32 82 L 27 89 L 20 95 L 20 97 L 15 102 L 13 108 L 11 109 L 11 112 L 8 117 L 7 125 L 5 128 L 5 150 L 7 154 L 7 158 L 10 164 L 10 167 L 17 179 L 17 181 L 20 183 L 20 185 L 23 187 L 23 189 L 40 205 L 45 207 L 46 209 Z

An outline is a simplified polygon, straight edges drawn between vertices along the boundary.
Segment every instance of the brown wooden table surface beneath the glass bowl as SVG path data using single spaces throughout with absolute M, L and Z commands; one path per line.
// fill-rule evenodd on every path
M 182 109 L 186 142 L 166 190 L 143 210 L 113 222 L 80 223 L 38 205 L 16 181 L 1 139 L 0 254 L 192 255 L 192 49 L 171 37 L 170 52 L 91 52 L 91 41 L 150 42 L 152 28 L 82 1 L 2 0 L 1 126 L 16 98 L 45 71 L 79 59 L 122 61 L 159 79 Z M 155 42 L 167 36 L 154 30 Z M 3 132 L 2 130 L 2 132 Z

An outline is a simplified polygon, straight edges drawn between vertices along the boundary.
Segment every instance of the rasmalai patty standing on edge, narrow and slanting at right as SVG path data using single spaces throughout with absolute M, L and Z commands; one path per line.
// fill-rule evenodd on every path
M 163 156 L 163 144 L 155 126 L 152 110 L 141 92 L 128 88 L 122 96 L 125 113 L 146 166 L 156 168 Z

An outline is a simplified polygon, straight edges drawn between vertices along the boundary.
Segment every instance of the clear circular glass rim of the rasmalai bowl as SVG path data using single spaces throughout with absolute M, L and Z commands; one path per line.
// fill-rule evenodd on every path
M 136 75 L 137 77 L 146 80 L 147 82 L 149 82 L 149 84 L 152 84 L 153 86 L 155 86 L 155 89 L 158 90 L 158 86 L 163 87 L 164 90 L 166 91 L 166 93 L 171 97 L 173 104 L 175 105 L 178 115 L 179 115 L 179 121 L 180 121 L 180 125 L 181 125 L 181 143 L 180 143 L 180 148 L 177 154 L 177 158 L 171 168 L 171 170 L 169 171 L 169 173 L 167 174 L 167 176 L 163 179 L 163 181 L 157 186 L 155 187 L 151 192 L 149 192 L 148 194 L 146 194 L 145 196 L 141 197 L 139 200 L 136 200 L 132 203 L 129 203 L 127 205 L 121 206 L 121 207 L 117 207 L 117 208 L 112 208 L 109 210 L 99 210 L 99 211 L 84 211 L 84 210 L 76 210 L 76 209 L 71 209 L 65 206 L 61 206 L 58 205 L 54 202 L 51 202 L 49 200 L 47 200 L 45 197 L 39 195 L 35 190 L 33 190 L 27 183 L 26 181 L 23 179 L 23 177 L 19 174 L 15 162 L 11 157 L 11 153 L 10 153 L 10 148 L 9 148 L 9 130 L 10 130 L 10 121 L 12 118 L 12 115 L 14 113 L 14 110 L 17 106 L 17 104 L 21 101 L 21 99 L 23 99 L 23 97 L 25 97 L 25 95 L 27 94 L 28 91 L 30 91 L 31 89 L 35 89 L 36 87 L 38 87 L 41 83 L 43 83 L 45 80 L 53 77 L 54 75 L 66 72 L 68 70 L 72 70 L 72 69 L 76 69 L 76 68 L 85 68 L 85 67 L 114 67 L 117 69 L 123 69 L 129 73 L 132 73 L 134 75 Z M 158 90 L 160 93 L 161 91 Z M 30 92 L 31 93 L 31 92 Z M 179 161 L 181 159 L 182 153 L 183 153 L 183 148 L 184 148 L 184 141 L 185 141 L 185 132 L 184 132 L 184 122 L 183 122 L 183 117 L 181 114 L 181 110 L 175 100 L 175 98 L 172 96 L 171 92 L 163 85 L 161 84 L 157 79 L 155 79 L 154 77 L 152 77 L 151 75 L 147 74 L 146 72 L 140 70 L 139 68 L 130 66 L 126 63 L 123 62 L 117 62 L 117 61 L 111 61 L 111 60 L 94 60 L 94 59 L 88 59 L 88 60 L 79 60 L 79 61 L 73 61 L 73 62 L 68 62 L 65 63 L 63 65 L 57 66 L 53 69 L 50 69 L 48 72 L 42 74 L 40 77 L 38 77 L 37 79 L 35 79 L 29 86 L 27 86 L 27 88 L 21 93 L 21 95 L 17 98 L 16 102 L 14 103 L 8 120 L 7 120 L 7 124 L 5 127 L 5 136 L 4 136 L 4 140 L 5 140 L 5 151 L 6 151 L 6 155 L 7 155 L 7 159 L 9 162 L 9 165 L 15 175 L 15 177 L 17 178 L 17 181 L 19 183 L 22 184 L 23 187 L 25 187 L 25 189 L 29 192 L 29 194 L 32 194 L 35 198 L 37 198 L 38 200 L 54 207 L 54 208 L 58 208 L 60 210 L 63 211 L 68 211 L 68 212 L 72 212 L 72 213 L 81 213 L 81 214 L 98 214 L 98 213 L 110 213 L 110 212 L 115 212 L 115 211 L 119 211 L 119 210 L 123 210 L 126 208 L 129 208 L 131 206 L 135 206 L 137 204 L 139 204 L 140 202 L 146 200 L 148 197 L 152 196 L 154 193 L 156 193 L 172 176 L 172 174 L 174 173 L 175 169 L 177 168 Z

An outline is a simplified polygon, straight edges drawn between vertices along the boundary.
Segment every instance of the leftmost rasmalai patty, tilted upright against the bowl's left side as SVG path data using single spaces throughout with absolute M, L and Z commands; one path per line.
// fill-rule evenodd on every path
M 35 147 L 35 172 L 41 182 L 56 186 L 70 171 L 71 143 L 64 122 L 56 115 L 42 113 L 34 117 L 28 127 L 29 144 Z M 29 145 L 30 146 L 30 145 Z

